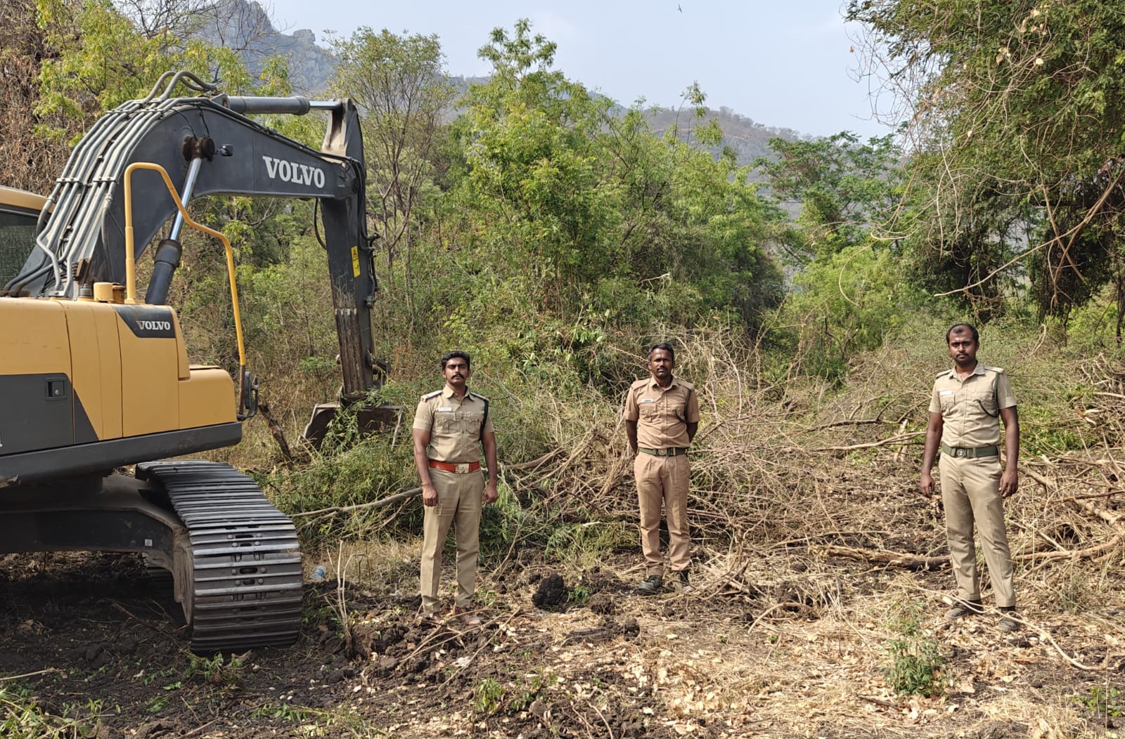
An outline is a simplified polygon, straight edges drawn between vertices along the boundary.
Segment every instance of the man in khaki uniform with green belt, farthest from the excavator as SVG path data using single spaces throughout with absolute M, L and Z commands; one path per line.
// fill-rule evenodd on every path
M 1019 462 L 1019 418 L 1016 396 L 1004 370 L 976 362 L 980 336 L 968 323 L 945 335 L 954 368 L 938 373 L 929 401 L 929 425 L 919 487 L 934 494 L 930 469 L 942 453 L 942 503 L 946 537 L 957 582 L 957 603 L 946 618 L 983 612 L 973 546 L 973 521 L 980 531 L 984 562 L 996 604 L 1004 612 L 999 628 L 1015 631 L 1016 593 L 1011 555 L 1004 527 L 1004 499 L 1016 492 Z M 1000 423 L 1004 420 L 1006 466 L 1000 472 Z

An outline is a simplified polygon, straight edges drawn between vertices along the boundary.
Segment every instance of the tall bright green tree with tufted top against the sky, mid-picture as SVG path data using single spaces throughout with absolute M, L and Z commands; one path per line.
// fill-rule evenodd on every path
M 614 271 L 615 183 L 603 177 L 595 135 L 608 100 L 552 70 L 556 46 L 521 20 L 482 47 L 493 64 L 471 85 L 456 134 L 478 225 L 474 243 L 494 258 L 515 257 L 555 310 L 580 285 Z M 512 253 L 512 249 L 515 253 Z

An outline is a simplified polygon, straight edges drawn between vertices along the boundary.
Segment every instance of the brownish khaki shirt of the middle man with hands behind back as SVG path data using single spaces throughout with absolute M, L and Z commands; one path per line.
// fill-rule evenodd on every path
M 687 425 L 700 422 L 700 404 L 692 383 L 673 376 L 667 389 L 656 380 L 638 380 L 626 395 L 624 419 L 637 421 L 637 446 L 648 449 L 686 448 Z

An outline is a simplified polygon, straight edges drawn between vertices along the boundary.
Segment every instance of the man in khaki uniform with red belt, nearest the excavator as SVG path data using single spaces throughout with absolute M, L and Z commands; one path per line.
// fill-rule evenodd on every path
M 441 554 L 449 527 L 457 539 L 457 599 L 453 613 L 466 626 L 478 626 L 471 613 L 480 549 L 480 504 L 496 501 L 496 434 L 488 400 L 470 393 L 469 355 L 450 352 L 441 357 L 446 386 L 423 395 L 414 413 L 414 463 L 422 478 L 425 505 L 422 539 L 422 614 L 438 610 Z M 480 447 L 488 465 L 488 483 L 480 473 Z

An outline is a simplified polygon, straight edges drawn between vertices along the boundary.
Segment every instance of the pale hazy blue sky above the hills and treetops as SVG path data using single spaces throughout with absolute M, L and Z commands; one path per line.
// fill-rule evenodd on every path
M 261 0 L 282 33 L 348 37 L 357 28 L 436 34 L 452 75 L 485 76 L 477 49 L 520 18 L 558 45 L 567 79 L 624 104 L 678 107 L 699 82 L 711 108 L 764 126 L 866 138 L 890 133 L 872 116 L 850 51 L 858 27 L 846 0 Z

